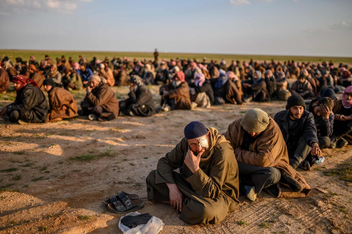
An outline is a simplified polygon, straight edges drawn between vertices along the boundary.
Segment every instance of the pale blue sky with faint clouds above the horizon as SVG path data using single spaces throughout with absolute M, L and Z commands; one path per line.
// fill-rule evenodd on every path
M 0 49 L 352 56 L 351 0 L 0 0 Z

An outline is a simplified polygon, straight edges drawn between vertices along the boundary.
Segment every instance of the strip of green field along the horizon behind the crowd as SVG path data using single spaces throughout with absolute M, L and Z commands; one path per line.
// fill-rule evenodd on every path
M 102 60 L 107 56 L 109 59 L 112 57 L 127 56 L 128 58 L 136 59 L 153 59 L 153 51 L 151 52 L 107 52 L 107 51 L 58 51 L 58 50 L 0 50 L 0 56 L 8 56 L 12 61 L 16 57 L 21 57 L 24 61 L 28 61 L 31 55 L 34 55 L 38 62 L 41 59 L 44 59 L 44 55 L 48 54 L 52 59 L 56 57 L 61 58 L 62 55 L 65 55 L 66 58 L 72 57 L 74 61 L 78 61 L 78 55 L 86 57 L 90 61 L 94 56 Z M 294 59 L 295 61 L 301 62 L 323 62 L 323 61 L 332 61 L 335 65 L 338 63 L 344 63 L 352 65 L 352 57 L 308 57 L 308 56 L 276 56 L 276 55 L 221 55 L 221 54 L 202 54 L 202 53 L 162 53 L 160 52 L 161 59 L 170 59 L 170 58 L 184 58 L 184 59 L 199 59 L 202 61 L 203 57 L 206 57 L 208 61 L 210 59 L 217 60 L 218 62 L 221 59 L 225 59 L 227 63 L 230 63 L 232 59 L 239 61 L 249 61 L 251 58 L 258 61 L 271 60 L 275 61 L 285 61 Z

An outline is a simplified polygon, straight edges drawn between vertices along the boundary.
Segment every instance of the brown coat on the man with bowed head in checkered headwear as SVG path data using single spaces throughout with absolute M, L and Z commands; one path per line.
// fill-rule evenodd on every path
M 232 122 L 224 134 L 234 149 L 240 147 L 243 142 L 245 130 L 240 125 L 241 120 L 242 118 Z M 241 150 L 236 158 L 239 163 L 260 167 L 272 166 L 280 170 L 285 183 L 279 182 L 276 184 L 277 188 L 267 189 L 274 197 L 306 197 L 312 190 L 304 177 L 289 165 L 287 146 L 279 126 L 272 118 L 268 127 L 250 145 L 250 151 Z

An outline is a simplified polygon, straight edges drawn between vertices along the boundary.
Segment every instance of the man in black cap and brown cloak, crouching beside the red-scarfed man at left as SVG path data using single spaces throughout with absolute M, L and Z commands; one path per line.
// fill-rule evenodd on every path
M 73 95 L 64 88 L 55 87 L 55 82 L 51 79 L 45 79 L 43 84 L 49 98 L 49 121 L 75 118 L 78 107 Z

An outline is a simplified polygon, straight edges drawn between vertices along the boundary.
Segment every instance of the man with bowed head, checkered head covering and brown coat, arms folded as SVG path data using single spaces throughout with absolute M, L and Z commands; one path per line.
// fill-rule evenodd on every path
M 249 109 L 243 118 L 232 122 L 225 138 L 230 141 L 238 162 L 240 186 L 246 196 L 256 200 L 264 188 L 277 184 L 282 178 L 295 192 L 280 194 L 280 184 L 269 193 L 275 197 L 305 197 L 311 188 L 290 165 L 285 141 L 279 126 L 261 109 Z M 283 175 L 281 171 L 284 171 Z M 299 185 L 299 186 L 298 186 Z M 276 187 L 276 189 L 275 189 Z

